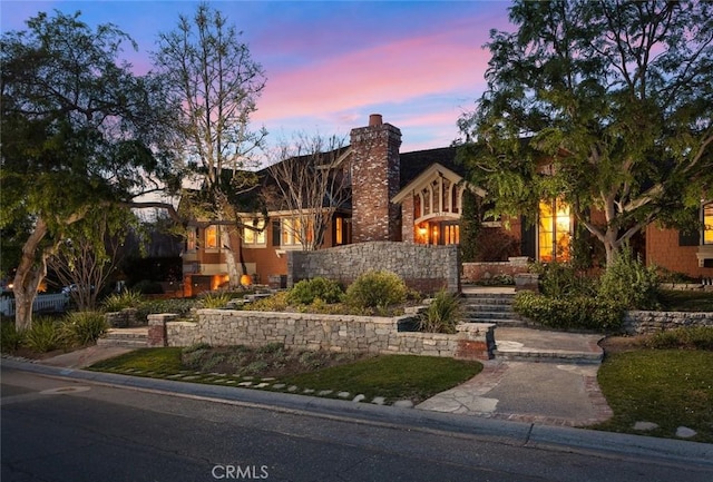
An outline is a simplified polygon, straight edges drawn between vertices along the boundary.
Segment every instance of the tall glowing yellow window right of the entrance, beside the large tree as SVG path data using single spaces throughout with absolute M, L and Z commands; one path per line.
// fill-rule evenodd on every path
M 572 217 L 569 205 L 560 199 L 540 201 L 538 246 L 539 260 L 569 259 L 569 243 L 572 240 Z

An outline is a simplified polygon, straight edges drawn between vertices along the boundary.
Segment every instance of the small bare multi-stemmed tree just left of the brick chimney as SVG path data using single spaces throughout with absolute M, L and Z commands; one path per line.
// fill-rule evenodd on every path
M 274 189 L 266 203 L 293 213 L 293 235 L 302 249 L 314 250 L 324 243 L 334 213 L 351 199 L 351 156 L 336 137 L 304 134 L 276 153 L 277 160 L 267 168 Z

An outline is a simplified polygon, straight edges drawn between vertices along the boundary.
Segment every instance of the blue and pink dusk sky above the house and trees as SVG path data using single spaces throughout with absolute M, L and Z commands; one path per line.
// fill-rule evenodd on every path
M 490 29 L 512 30 L 506 1 L 213 1 L 266 73 L 255 127 L 271 142 L 293 132 L 336 135 L 381 114 L 401 129 L 401 151 L 445 147 L 484 91 Z M 158 32 L 175 29 L 194 1 L 6 1 L 2 31 L 23 30 L 39 11 L 82 12 L 138 42 L 125 58 L 150 68 Z

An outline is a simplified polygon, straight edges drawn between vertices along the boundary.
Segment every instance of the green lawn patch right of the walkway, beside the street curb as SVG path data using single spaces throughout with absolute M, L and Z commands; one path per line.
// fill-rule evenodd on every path
M 675 437 L 678 426 L 697 432 L 688 439 L 713 442 L 713 352 L 637 350 L 607 355 L 599 386 L 614 411 L 595 429 Z M 658 429 L 638 432 L 636 422 Z

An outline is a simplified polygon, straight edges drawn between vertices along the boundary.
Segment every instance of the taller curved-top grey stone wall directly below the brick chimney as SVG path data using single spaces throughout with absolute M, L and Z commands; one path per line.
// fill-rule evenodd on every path
M 458 247 L 370 242 L 315 252 L 287 252 L 287 286 L 316 276 L 344 285 L 370 269 L 387 269 L 422 293 L 460 291 Z

